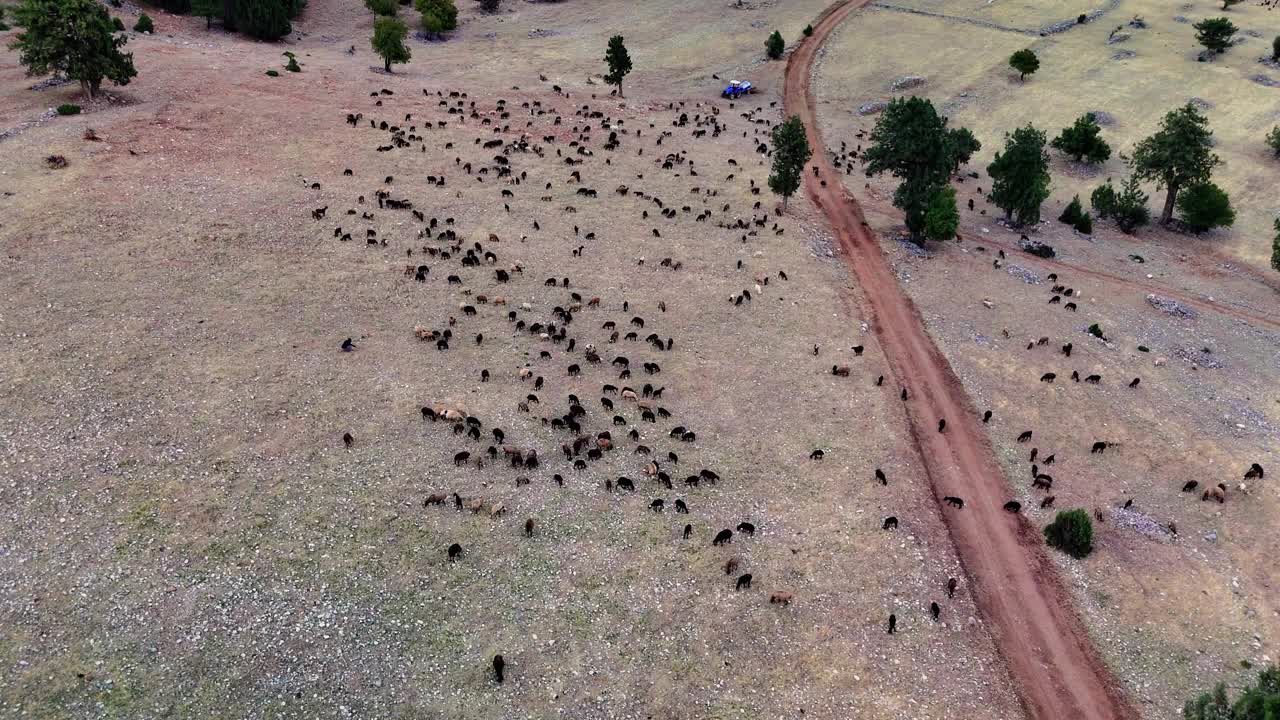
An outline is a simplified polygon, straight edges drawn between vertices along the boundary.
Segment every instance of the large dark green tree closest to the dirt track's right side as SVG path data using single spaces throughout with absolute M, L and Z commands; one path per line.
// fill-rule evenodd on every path
M 867 174 L 890 173 L 902 181 L 893 191 L 893 206 L 906 214 L 915 242 L 924 232 L 925 208 L 957 165 L 957 137 L 923 97 L 895 97 L 876 120 L 872 145 L 863 152 Z

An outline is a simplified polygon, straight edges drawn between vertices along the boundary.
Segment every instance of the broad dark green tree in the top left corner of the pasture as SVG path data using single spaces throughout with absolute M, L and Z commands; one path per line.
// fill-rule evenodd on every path
M 128 38 L 114 33 L 106 8 L 95 0 L 23 0 L 14 23 L 23 32 L 9 46 L 28 76 L 61 73 L 92 100 L 104 79 L 128 85 L 138 74 L 133 54 L 120 51 Z

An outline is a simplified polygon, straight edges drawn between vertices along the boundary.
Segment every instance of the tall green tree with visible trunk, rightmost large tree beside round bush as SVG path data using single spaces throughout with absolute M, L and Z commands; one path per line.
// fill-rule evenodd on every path
M 1160 214 L 1162 224 L 1174 217 L 1178 191 L 1208 182 L 1221 161 L 1210 150 L 1212 145 L 1213 132 L 1208 129 L 1208 119 L 1188 102 L 1166 114 L 1160 122 L 1160 131 L 1134 149 L 1133 169 L 1138 179 L 1155 181 L 1157 188 L 1167 191 L 1165 209 Z

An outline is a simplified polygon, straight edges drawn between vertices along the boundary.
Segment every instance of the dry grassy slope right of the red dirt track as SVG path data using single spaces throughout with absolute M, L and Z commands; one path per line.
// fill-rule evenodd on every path
M 920 8 L 1014 27 L 1060 19 L 1028 18 L 1023 9 L 1000 4 Z M 1181 12 L 1193 19 L 1216 14 L 1208 5 Z M 1243 28 L 1266 29 L 1274 18 L 1267 13 L 1244 4 L 1230 14 Z M 1106 45 L 1111 28 L 1135 14 L 1151 27 L 1126 28 L 1133 40 Z M 847 179 L 886 238 L 931 334 L 975 405 L 993 411 L 988 432 L 1012 495 L 1032 507 L 1052 495 L 1055 507 L 1102 511 L 1094 555 L 1083 562 L 1064 557 L 1061 566 L 1097 646 L 1139 711 L 1152 717 L 1176 716 L 1189 688 L 1219 676 L 1236 684 L 1252 673 L 1244 664 L 1274 661 L 1280 632 L 1274 562 L 1280 547 L 1271 530 L 1280 497 L 1270 480 L 1242 480 L 1251 462 L 1276 462 L 1280 437 L 1280 283 L 1262 265 L 1276 213 L 1270 188 L 1280 181 L 1280 165 L 1261 145 L 1263 128 L 1277 119 L 1275 90 L 1247 76 L 1261 69 L 1254 58 L 1261 41 L 1249 37 L 1225 58 L 1199 64 L 1189 26 L 1166 14 L 1153 5 L 1121 4 L 1103 19 L 1039 38 L 872 6 L 846 20 L 828 44 L 815 85 L 828 146 L 846 141 L 856 147 L 863 142 L 858 133 L 870 131 L 876 119 L 859 115 L 859 105 L 892 96 L 888 86 L 900 77 L 928 78 L 910 92 L 928 96 L 952 123 L 974 129 L 984 145 L 972 163 L 978 170 L 1002 146 L 1002 131 L 1019 123 L 1032 122 L 1052 136 L 1084 110 L 1101 109 L 1119 119 L 1106 128 L 1107 140 L 1128 149 L 1184 96 L 1216 104 L 1208 117 L 1219 138 L 1215 150 L 1225 160 L 1216 177 L 1229 188 L 1239 223 L 1204 238 L 1158 229 L 1130 237 L 1108 223 L 1083 237 L 1050 222 L 1034 236 L 1059 258 L 1041 260 L 1018 251 L 1018 231 L 995 223 L 998 210 L 978 193 L 982 172 L 980 179 L 957 184 L 959 199 L 977 204 L 975 211 L 961 211 L 964 240 L 936 247 L 925 259 L 891 240 L 901 233 L 901 214 L 890 204 L 891 179 L 872 179 L 869 187 L 858 173 Z M 913 41 L 901 42 L 901 35 Z M 919 46 L 947 51 L 922 53 Z M 1010 78 L 1006 59 L 1025 46 L 1036 49 L 1042 68 L 1021 85 Z M 1111 60 L 1119 49 L 1137 56 Z M 881 61 L 856 61 L 868 55 Z M 1088 188 L 1119 176 L 1123 165 L 1114 158 L 1087 174 L 1053 154 L 1051 172 L 1053 195 L 1043 213 L 1050 220 L 1071 195 L 1087 199 Z M 980 214 L 984 209 L 988 215 Z M 993 269 L 997 250 L 1007 259 Z M 1078 313 L 1048 305 L 1053 284 L 1075 291 Z M 1172 300 L 1194 316 L 1158 310 L 1148 295 Z M 1106 341 L 1087 333 L 1093 323 Z M 1047 345 L 1027 348 L 1039 338 Z M 1061 351 L 1069 342 L 1070 357 Z M 1101 384 L 1074 383 L 1073 370 L 1082 378 L 1098 374 Z M 1056 382 L 1039 382 L 1050 372 Z M 1128 388 L 1135 377 L 1139 387 Z M 1033 430 L 1033 438 L 1016 442 L 1024 430 Z M 1091 455 L 1100 439 L 1117 447 Z M 1030 487 L 1032 448 L 1041 471 L 1056 480 L 1050 492 Z M 1051 468 L 1043 465 L 1048 455 L 1055 455 Z M 1188 480 L 1199 489 L 1180 492 Z M 1201 489 L 1219 482 L 1229 487 L 1228 502 L 1201 502 Z M 1041 524 L 1052 512 L 1032 510 Z

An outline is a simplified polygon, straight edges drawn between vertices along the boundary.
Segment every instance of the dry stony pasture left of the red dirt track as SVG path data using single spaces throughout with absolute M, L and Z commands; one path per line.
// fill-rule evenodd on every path
M 122 102 L 4 141 L 6 712 L 1018 716 L 965 583 L 946 598 L 947 578 L 963 573 L 899 430 L 896 391 L 874 386 L 883 357 L 817 218 L 800 204 L 777 231 L 774 219 L 718 227 L 773 206 L 749 192 L 767 176 L 754 152 L 763 126 L 740 113 L 773 118 L 776 96 L 713 110 L 707 76 L 759 61 L 767 32 L 751 23 L 797 35 L 819 4 L 708 6 L 677 38 L 669 18 L 637 18 L 630 3 L 585 15 L 575 4 L 513 5 L 495 18 L 465 14 L 456 38 L 413 45 L 413 63 L 394 76 L 369 69 L 376 60 L 361 40 L 362 9 L 315 3 L 289 44 L 303 72 L 280 78 L 262 74 L 282 64 L 280 47 L 160 15 L 156 36 L 131 41 L 140 77 L 113 91 Z M 698 24 L 707 18 L 730 32 Z M 530 40 L 534 28 L 557 35 Z M 640 68 L 626 100 L 586 83 L 614 28 Z M 677 41 L 717 64 L 660 50 Z M 353 56 L 344 53 L 352 44 Z M 513 53 L 524 58 L 515 69 Z M 68 87 L 26 90 L 32 81 L 14 65 L 4 55 L 9 127 L 73 97 Z M 777 82 L 780 65 L 759 73 L 762 85 Z M 370 97 L 380 88 L 393 95 Z M 461 117 L 439 105 L 451 91 L 467 94 Z M 472 101 L 509 132 L 470 117 Z M 522 108 L 535 101 L 547 114 Z M 690 118 L 718 111 L 723 132 L 695 140 L 692 120 L 673 127 L 681 109 L 672 102 Z M 621 128 L 616 151 L 603 150 L 600 119 L 577 114 L 584 106 Z M 364 114 L 358 127 L 344 124 L 347 113 Z M 389 133 L 369 119 L 445 127 L 378 152 Z M 100 141 L 83 140 L 87 128 Z M 671 136 L 659 146 L 663 131 Z M 525 181 L 508 186 L 494 174 L 502 150 L 477 138 L 512 143 L 522 133 L 541 156 L 513 150 L 509 167 Z M 571 156 L 580 135 L 593 155 L 566 167 L 559 154 Z M 663 169 L 664 152 L 687 160 Z M 47 169 L 50 154 L 69 167 Z M 444 187 L 426 181 L 442 174 Z M 618 196 L 618 184 L 660 197 L 676 217 Z M 424 255 L 449 242 L 420 237 L 428 225 L 407 210 L 379 209 L 384 188 L 438 218 L 433 236 L 453 218 L 458 245 L 480 242 L 497 264 Z M 751 209 L 756 200 L 763 209 Z M 326 217 L 314 220 L 321 206 Z M 704 210 L 709 219 L 696 222 Z M 338 227 L 353 238 L 337 240 Z M 370 229 L 387 245 L 367 245 Z M 662 266 L 664 258 L 681 268 Z M 430 265 L 426 282 L 406 277 L 406 263 Z M 497 283 L 495 268 L 512 264 L 524 273 Z M 451 274 L 463 284 L 447 283 Z M 756 288 L 756 275 L 768 284 Z M 547 287 L 549 277 L 570 287 Z M 744 290 L 750 301 L 727 301 Z M 559 324 L 553 307 L 568 306 L 571 292 L 602 299 L 575 313 L 572 352 L 506 318 L 513 310 L 526 323 Z M 451 316 L 447 351 L 413 336 L 416 325 L 448 328 Z M 602 324 L 625 333 L 632 316 L 645 319 L 640 338 L 673 338 L 672 350 L 611 345 Z M 347 337 L 349 354 L 339 350 Z M 588 343 L 603 364 L 584 360 Z M 854 345 L 867 346 L 861 357 Z M 617 355 L 632 361 L 630 382 L 609 364 Z M 641 361 L 662 372 L 645 375 Z M 571 363 L 581 377 L 567 377 Z M 832 377 L 836 363 L 851 363 L 851 377 Z M 517 378 L 526 364 L 545 378 L 527 414 L 517 407 L 535 392 L 532 379 Z M 600 386 L 646 382 L 664 387 L 653 402 L 672 418 L 644 423 L 614 395 L 626 418 L 614 427 Z M 612 430 L 617 446 L 581 471 L 558 450 L 572 436 L 539 420 L 564 414 L 570 393 L 588 410 L 584 432 Z M 484 441 L 425 421 L 420 407 L 435 404 L 463 406 L 483 421 Z M 696 441 L 671 439 L 673 425 Z M 494 427 L 508 445 L 536 448 L 540 466 L 515 470 L 499 457 L 456 468 L 458 451 L 483 457 Z M 648 459 L 623 437 L 628 428 L 673 489 L 643 474 Z M 343 433 L 355 439 L 349 450 Z M 823 460 L 809 460 L 815 448 Z M 704 468 L 721 480 L 684 484 Z M 877 468 L 887 487 L 874 482 Z M 517 477 L 531 482 L 517 487 Z M 637 492 L 607 491 L 618 477 Z M 452 501 L 424 507 L 435 492 L 502 502 L 506 514 L 458 512 Z M 659 497 L 666 511 L 652 512 Z M 677 498 L 689 515 L 673 511 Z M 897 532 L 881 529 L 887 515 L 901 519 Z M 531 538 L 526 518 L 536 523 Z M 755 536 L 712 547 L 740 521 Z M 454 542 L 463 555 L 451 564 Z M 722 569 L 730 557 L 753 574 L 751 589 L 735 592 L 737 573 Z M 771 605 L 774 591 L 795 601 Z M 940 623 L 931 601 L 945 609 Z M 890 612 L 900 625 L 886 642 Z M 507 661 L 502 687 L 489 670 L 494 653 Z

